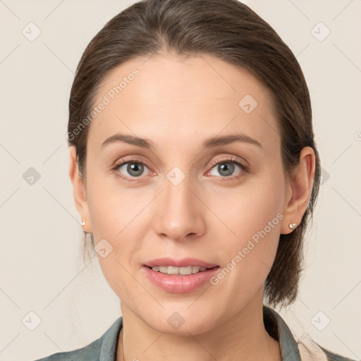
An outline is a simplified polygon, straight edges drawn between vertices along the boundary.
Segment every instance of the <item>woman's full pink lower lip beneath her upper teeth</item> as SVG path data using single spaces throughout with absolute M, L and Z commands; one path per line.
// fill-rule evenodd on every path
M 148 279 L 162 290 L 173 293 L 186 293 L 196 290 L 219 271 L 219 267 L 207 269 L 197 274 L 163 274 L 153 271 L 151 268 L 142 266 Z

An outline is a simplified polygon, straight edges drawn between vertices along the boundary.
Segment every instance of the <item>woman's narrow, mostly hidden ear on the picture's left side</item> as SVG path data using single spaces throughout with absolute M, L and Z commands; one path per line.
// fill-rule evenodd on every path
M 80 176 L 78 161 L 76 158 L 76 149 L 74 145 L 69 146 L 70 151 L 70 164 L 69 164 L 69 176 L 71 177 L 71 183 L 73 184 L 73 195 L 75 200 L 75 207 L 78 209 L 81 219 L 85 219 L 86 224 L 82 228 L 87 233 L 92 233 L 92 225 L 90 223 L 89 208 L 87 204 L 87 192 L 85 183 Z

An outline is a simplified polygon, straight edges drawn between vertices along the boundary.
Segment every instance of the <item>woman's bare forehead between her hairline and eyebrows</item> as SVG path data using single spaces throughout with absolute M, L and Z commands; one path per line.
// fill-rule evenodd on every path
M 94 145 L 117 132 L 156 144 L 240 131 L 265 145 L 279 141 L 269 90 L 245 68 L 212 56 L 157 54 L 123 63 L 99 86 L 93 106 L 102 102 L 88 135 Z

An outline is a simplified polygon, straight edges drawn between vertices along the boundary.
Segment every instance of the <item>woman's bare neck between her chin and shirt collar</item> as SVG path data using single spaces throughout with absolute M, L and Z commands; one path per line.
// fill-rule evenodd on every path
M 216 329 L 195 336 L 164 334 L 145 324 L 125 305 L 121 309 L 123 329 L 117 361 L 281 361 L 279 342 L 264 328 L 262 302 L 247 304 Z

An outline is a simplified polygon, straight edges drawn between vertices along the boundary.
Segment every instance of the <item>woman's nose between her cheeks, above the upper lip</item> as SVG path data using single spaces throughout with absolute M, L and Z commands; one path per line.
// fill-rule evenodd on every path
M 159 195 L 154 212 L 154 230 L 161 238 L 178 242 L 199 238 L 205 231 L 204 212 L 207 207 L 185 177 L 178 185 L 164 181 L 164 191 Z

